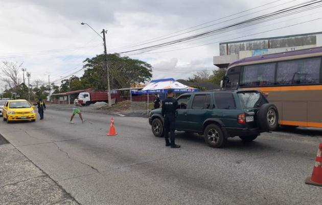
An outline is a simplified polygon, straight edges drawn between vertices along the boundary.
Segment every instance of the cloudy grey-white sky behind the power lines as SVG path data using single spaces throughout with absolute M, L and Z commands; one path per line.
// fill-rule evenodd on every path
M 0 61 L 24 62 L 24 67 L 31 72 L 32 81 L 48 81 L 50 75 L 51 81 L 59 84 L 60 78 L 80 70 L 85 58 L 103 52 L 102 39 L 86 25 L 81 25 L 81 22 L 89 24 L 98 32 L 103 28 L 107 29 L 107 50 L 114 53 L 197 34 L 307 1 L 309 0 L 1 0 Z M 274 3 L 268 4 L 270 2 Z M 255 7 L 258 8 L 252 9 Z M 229 16 L 239 12 L 242 13 Z M 229 17 L 223 18 L 225 16 Z M 177 46 L 129 56 L 151 64 L 154 79 L 188 78 L 198 70 L 215 69 L 213 56 L 219 53 L 218 42 L 319 32 L 322 31 L 321 19 L 282 27 L 320 17 L 322 8 L 317 8 Z M 177 32 L 216 19 L 219 20 Z M 211 24 L 216 25 L 210 26 Z M 204 26 L 209 27 L 199 29 Z M 265 32 L 272 29 L 278 30 Z M 180 35 L 187 31 L 191 32 Z M 176 36 L 165 40 L 158 38 L 173 35 Z M 155 42 L 135 47 L 149 40 Z M 208 43 L 211 44 L 200 46 Z M 78 72 L 75 75 L 81 74 L 82 72 Z

